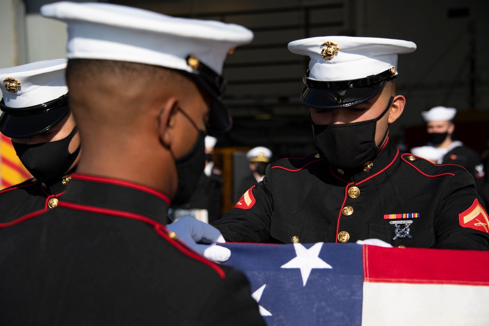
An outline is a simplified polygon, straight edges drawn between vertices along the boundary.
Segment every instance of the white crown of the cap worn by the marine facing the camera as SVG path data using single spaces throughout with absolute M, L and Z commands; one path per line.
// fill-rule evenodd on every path
M 326 42 L 337 48 L 331 59 L 321 55 L 328 48 Z M 398 54 L 416 50 L 416 44 L 409 41 L 350 36 L 313 37 L 290 42 L 288 47 L 292 53 L 311 58 L 309 78 L 329 82 L 377 75 L 392 67 L 397 70 Z

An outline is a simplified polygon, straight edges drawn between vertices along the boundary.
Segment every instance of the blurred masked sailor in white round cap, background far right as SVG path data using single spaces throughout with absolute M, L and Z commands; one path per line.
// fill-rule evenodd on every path
M 456 164 L 466 168 L 474 177 L 477 190 L 480 191 L 484 186 L 486 175 L 484 164 L 477 152 L 453 136 L 455 130 L 453 118 L 457 114 L 457 109 L 440 106 L 422 111 L 421 114 L 426 122 L 426 131 L 429 136 L 428 145 L 445 151 L 438 163 Z

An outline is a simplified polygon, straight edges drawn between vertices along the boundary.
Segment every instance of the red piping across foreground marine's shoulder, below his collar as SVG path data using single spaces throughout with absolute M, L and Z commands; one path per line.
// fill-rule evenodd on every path
M 155 229 L 155 232 L 161 238 L 165 239 L 167 242 L 169 242 L 171 245 L 173 245 L 175 248 L 177 248 L 180 252 L 182 252 L 186 256 L 188 256 L 188 257 L 190 257 L 196 261 L 200 261 L 201 263 L 209 266 L 222 279 L 224 279 L 226 277 L 226 273 L 222 270 L 221 267 L 216 265 L 214 262 L 208 261 L 207 259 L 203 258 L 199 254 L 194 252 L 192 249 L 187 247 L 180 240 L 171 239 L 168 236 L 169 231 L 165 228 L 165 226 L 163 224 L 156 222 L 154 219 L 151 219 L 149 217 L 145 217 L 145 216 L 142 216 L 139 214 L 130 213 L 130 212 L 117 211 L 117 210 L 112 210 L 112 209 L 107 209 L 107 208 L 100 208 L 100 207 L 93 207 L 93 206 L 87 206 L 87 205 L 68 203 L 66 201 L 60 201 L 58 203 L 58 206 L 59 207 L 66 207 L 66 208 L 77 210 L 77 211 L 89 212 L 89 213 L 110 215 L 110 216 L 123 217 L 123 218 L 131 218 L 131 219 L 139 220 L 141 222 L 148 223 L 148 224 L 153 226 L 153 228 Z

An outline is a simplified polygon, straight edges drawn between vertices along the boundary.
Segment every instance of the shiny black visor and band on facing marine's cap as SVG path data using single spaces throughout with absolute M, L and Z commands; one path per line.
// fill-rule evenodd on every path
M 351 107 L 376 96 L 389 79 L 393 79 L 391 70 L 365 78 L 325 82 L 309 79 L 309 72 L 304 76 L 304 90 L 301 102 L 315 109 L 339 109 Z

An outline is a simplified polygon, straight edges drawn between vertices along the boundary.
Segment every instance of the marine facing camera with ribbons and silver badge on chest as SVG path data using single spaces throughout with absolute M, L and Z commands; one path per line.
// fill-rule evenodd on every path
M 301 101 L 318 152 L 270 164 L 214 223 L 224 238 L 488 250 L 488 215 L 471 175 L 401 154 L 389 139 L 405 103 L 395 94 L 398 54 L 416 44 L 326 36 L 289 49 L 311 57 Z

